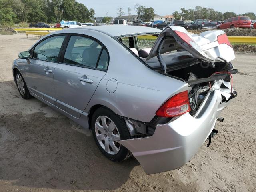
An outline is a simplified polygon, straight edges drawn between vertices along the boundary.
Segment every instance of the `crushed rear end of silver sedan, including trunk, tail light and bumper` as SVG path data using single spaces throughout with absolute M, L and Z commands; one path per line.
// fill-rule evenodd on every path
M 230 62 L 234 58 L 223 31 L 196 35 L 183 27 L 167 27 L 160 33 L 145 62 L 163 75 L 186 82 L 188 91 L 163 101 L 152 122 L 138 126 L 126 121 L 144 137 L 119 143 L 147 174 L 183 166 L 206 141 L 222 110 L 237 96 L 232 74 L 238 70 Z

